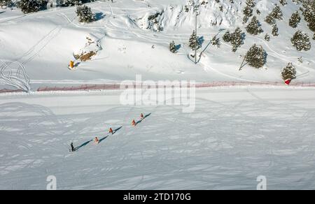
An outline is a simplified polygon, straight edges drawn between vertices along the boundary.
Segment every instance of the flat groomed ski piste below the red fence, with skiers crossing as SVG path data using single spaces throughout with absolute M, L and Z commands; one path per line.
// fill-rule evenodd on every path
M 0 189 L 45 189 L 49 175 L 57 189 L 256 189 L 260 175 L 267 189 L 315 189 L 315 89 L 196 96 L 191 113 L 118 105 L 118 91 L 1 96 Z

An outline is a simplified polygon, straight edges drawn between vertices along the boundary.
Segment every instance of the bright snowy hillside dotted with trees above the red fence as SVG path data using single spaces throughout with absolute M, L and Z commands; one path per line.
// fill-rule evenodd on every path
M 189 5 L 186 0 L 88 3 L 98 19 L 91 24 L 80 24 L 74 7 L 50 8 L 28 15 L 17 9 L 1 10 L 0 59 L 24 64 L 33 83 L 45 80 L 50 80 L 50 83 L 61 80 L 72 80 L 73 83 L 76 80 L 134 80 L 135 74 L 141 74 L 145 80 L 280 82 L 281 68 L 290 61 L 297 68 L 298 81 L 314 81 L 314 41 L 307 52 L 297 52 L 290 43 L 297 29 L 313 35 L 304 20 L 297 29 L 288 26 L 288 18 L 299 9 L 291 1 L 281 6 L 283 20 L 277 22 L 279 36 L 272 37 L 270 42 L 265 41 L 264 36 L 271 33 L 272 27 L 265 23 L 264 18 L 274 8 L 274 3 L 279 4 L 276 0 L 262 1 L 264 4 L 258 2 L 256 8 L 261 11 L 258 19 L 265 32 L 258 36 L 246 33 L 245 43 L 236 53 L 231 52 L 230 45 L 222 39 L 221 48 L 208 45 L 211 38 L 217 34 L 222 37 L 226 30 L 241 27 L 245 31 L 246 24 L 242 24 L 244 2 L 231 4 L 228 0 L 220 3 L 209 0 L 201 6 L 198 27 L 199 35 L 204 37 L 201 49 L 204 52 L 197 65 L 188 59 L 191 52 L 188 39 L 195 17 L 191 8 L 185 11 L 185 6 Z M 223 6 L 223 12 L 220 6 Z M 153 31 L 155 25 L 148 28 L 148 17 L 157 13 L 160 15 L 156 22 L 163 28 L 160 32 Z M 80 63 L 76 71 L 69 71 L 67 66 L 73 60 L 73 52 L 84 48 L 85 38 L 90 34 L 99 38 L 103 50 L 92 61 Z M 178 54 L 169 52 L 171 41 L 181 45 Z M 239 71 L 244 54 L 254 43 L 267 50 L 267 64 L 260 69 L 245 66 Z M 302 63 L 298 57 L 302 57 Z

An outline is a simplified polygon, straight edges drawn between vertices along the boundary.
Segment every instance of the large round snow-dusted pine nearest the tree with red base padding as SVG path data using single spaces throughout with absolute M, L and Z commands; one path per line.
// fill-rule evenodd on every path
M 266 51 L 261 45 L 253 45 L 246 53 L 245 61 L 247 61 L 250 66 L 260 68 L 266 63 L 266 55 Z

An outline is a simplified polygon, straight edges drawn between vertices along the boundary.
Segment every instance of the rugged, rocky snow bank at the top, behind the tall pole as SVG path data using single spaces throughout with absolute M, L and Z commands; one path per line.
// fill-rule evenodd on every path
M 230 1 L 200 1 L 198 27 L 209 28 L 221 26 L 228 28 L 237 22 L 242 15 L 242 2 L 231 3 Z M 164 29 L 179 29 L 181 27 L 195 27 L 195 12 L 193 1 L 181 1 L 170 3 L 156 10 L 151 10 L 144 16 L 136 17 L 135 22 L 142 29 L 163 31 Z

